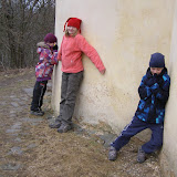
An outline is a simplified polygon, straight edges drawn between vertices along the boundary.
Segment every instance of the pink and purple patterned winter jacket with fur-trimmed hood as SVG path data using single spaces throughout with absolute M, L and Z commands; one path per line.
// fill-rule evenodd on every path
M 42 46 L 39 46 L 37 52 L 40 54 L 40 61 L 35 65 L 37 81 L 51 80 L 53 66 L 58 64 L 58 52 Z

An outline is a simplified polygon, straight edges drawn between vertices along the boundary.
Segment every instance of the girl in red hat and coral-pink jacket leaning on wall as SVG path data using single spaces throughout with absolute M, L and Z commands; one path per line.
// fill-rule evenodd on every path
M 77 18 L 67 19 L 64 24 L 65 34 L 58 54 L 63 72 L 60 115 L 54 124 L 50 124 L 50 127 L 58 128 L 59 133 L 65 133 L 72 128 L 76 94 L 83 80 L 82 53 L 91 59 L 101 74 L 105 73 L 105 66 L 96 50 L 81 35 L 81 22 L 82 20 Z

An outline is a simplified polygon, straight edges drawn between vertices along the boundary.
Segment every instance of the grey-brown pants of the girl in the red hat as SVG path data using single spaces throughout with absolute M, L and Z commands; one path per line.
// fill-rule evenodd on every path
M 63 73 L 61 86 L 61 102 L 59 121 L 72 124 L 76 94 L 83 80 L 83 71 L 79 73 Z

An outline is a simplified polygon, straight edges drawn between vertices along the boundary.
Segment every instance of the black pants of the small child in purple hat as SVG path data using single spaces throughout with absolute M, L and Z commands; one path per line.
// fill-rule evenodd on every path
M 48 81 L 37 81 L 33 88 L 31 111 L 40 111 L 43 104 L 43 96 L 46 91 Z

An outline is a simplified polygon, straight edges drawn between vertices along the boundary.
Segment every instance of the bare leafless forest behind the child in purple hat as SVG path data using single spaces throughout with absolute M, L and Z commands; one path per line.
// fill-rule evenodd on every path
M 0 70 L 37 64 L 37 43 L 54 33 L 55 0 L 0 1 Z

